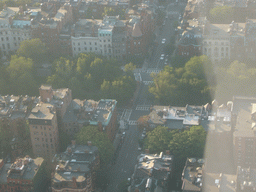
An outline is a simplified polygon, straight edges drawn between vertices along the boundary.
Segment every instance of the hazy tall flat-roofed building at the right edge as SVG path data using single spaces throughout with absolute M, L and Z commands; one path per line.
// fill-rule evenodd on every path
M 236 166 L 256 167 L 256 98 L 234 97 L 233 150 Z

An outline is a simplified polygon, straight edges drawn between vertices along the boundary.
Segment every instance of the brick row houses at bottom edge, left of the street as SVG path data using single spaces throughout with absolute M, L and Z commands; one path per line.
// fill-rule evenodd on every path
M 100 167 L 98 148 L 91 145 L 72 145 L 54 157 L 56 164 L 52 178 L 52 191 L 92 192 L 95 189 L 96 171 Z

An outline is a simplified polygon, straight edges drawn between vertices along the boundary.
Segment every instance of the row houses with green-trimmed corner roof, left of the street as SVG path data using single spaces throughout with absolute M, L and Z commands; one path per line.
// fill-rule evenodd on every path
M 113 141 L 117 130 L 116 104 L 117 102 L 111 99 L 99 101 L 74 99 L 63 118 L 63 129 L 74 137 L 81 127 L 92 125 L 104 131 Z

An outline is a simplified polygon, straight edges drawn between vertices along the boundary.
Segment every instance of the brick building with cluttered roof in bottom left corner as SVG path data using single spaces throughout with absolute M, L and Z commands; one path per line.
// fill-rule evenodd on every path
M 1 191 L 36 191 L 42 182 L 35 179 L 42 173 L 44 159 L 41 157 L 32 159 L 29 156 L 17 158 L 14 163 L 5 164 L 0 160 L 0 189 Z M 41 177 L 41 179 L 44 179 Z M 38 185 L 39 184 L 39 185 Z

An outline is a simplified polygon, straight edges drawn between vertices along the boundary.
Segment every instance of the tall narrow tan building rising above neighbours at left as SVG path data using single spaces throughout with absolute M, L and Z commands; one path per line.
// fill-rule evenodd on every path
M 34 155 L 52 158 L 59 148 L 55 107 L 50 103 L 38 103 L 28 116 L 28 122 Z

